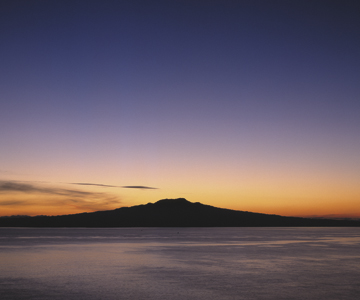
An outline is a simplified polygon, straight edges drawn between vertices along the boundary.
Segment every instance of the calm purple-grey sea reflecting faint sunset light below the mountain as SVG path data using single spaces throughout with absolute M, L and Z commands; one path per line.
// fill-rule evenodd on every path
M 360 228 L 0 228 L 0 299 L 359 299 Z

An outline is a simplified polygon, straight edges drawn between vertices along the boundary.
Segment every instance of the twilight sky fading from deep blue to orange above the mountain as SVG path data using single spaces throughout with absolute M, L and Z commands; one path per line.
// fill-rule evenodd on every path
M 360 217 L 359 1 L 0 1 L 0 216 L 186 198 Z

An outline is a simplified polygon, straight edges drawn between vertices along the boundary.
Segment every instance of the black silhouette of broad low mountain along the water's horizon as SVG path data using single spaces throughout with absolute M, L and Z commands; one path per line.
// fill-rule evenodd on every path
M 1 227 L 343 227 L 360 221 L 283 217 L 217 208 L 184 198 L 62 216 L 1 217 Z

